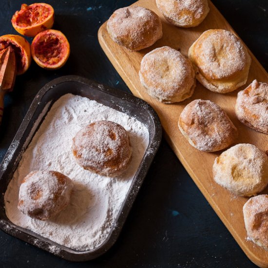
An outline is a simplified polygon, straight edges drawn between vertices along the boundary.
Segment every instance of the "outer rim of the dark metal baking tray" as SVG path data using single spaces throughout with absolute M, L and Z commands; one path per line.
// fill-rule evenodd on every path
M 154 131 L 153 138 L 152 138 L 152 140 L 149 140 L 148 147 L 147 147 L 147 149 L 142 157 L 141 163 L 140 163 L 140 165 L 139 165 L 139 167 L 138 167 L 138 169 L 133 177 L 133 181 L 130 185 L 129 191 L 126 194 L 126 198 L 125 198 L 120 210 L 118 211 L 115 222 L 114 222 L 107 238 L 97 248 L 91 249 L 91 250 L 70 249 L 70 248 L 67 248 L 65 246 L 61 246 L 50 239 L 47 239 L 43 236 L 40 236 L 31 230 L 21 228 L 15 224 L 13 224 L 9 219 L 8 219 L 8 221 L 6 221 L 6 220 L 3 220 L 0 218 L 0 230 L 4 231 L 7 234 L 15 236 L 16 238 L 19 238 L 20 240 L 23 240 L 23 241 L 25 241 L 33 246 L 36 246 L 39 249 L 43 249 L 43 250 L 46 250 L 50 253 L 53 253 L 54 255 L 57 255 L 63 259 L 70 260 L 70 261 L 87 261 L 87 260 L 95 259 L 96 257 L 102 255 L 103 253 L 105 253 L 108 249 L 110 249 L 115 244 L 115 242 L 119 236 L 119 233 L 125 224 L 126 218 L 127 218 L 128 214 L 129 214 L 129 212 L 134 204 L 134 201 L 135 201 L 135 198 L 139 192 L 139 189 L 142 186 L 142 182 L 144 181 L 146 174 L 147 174 L 147 172 L 148 172 L 148 170 L 153 162 L 153 158 L 154 158 L 154 156 L 155 156 L 155 154 L 160 146 L 160 142 L 161 142 L 161 138 L 162 138 L 162 127 L 161 127 L 158 115 L 153 110 L 153 108 L 150 106 L 150 104 L 148 104 L 147 102 L 145 102 L 144 100 L 142 100 L 136 96 L 133 96 L 133 95 L 128 94 L 126 92 L 123 92 L 121 90 L 112 88 L 110 86 L 107 86 L 107 85 L 104 85 L 104 84 L 101 84 L 101 83 L 98 83 L 96 81 L 93 81 L 93 80 L 90 80 L 90 79 L 87 79 L 84 77 L 80 77 L 80 76 L 69 75 L 69 76 L 58 77 L 58 78 L 53 79 L 50 82 L 46 83 L 38 91 L 37 95 L 33 99 L 25 117 L 23 118 L 23 120 L 19 126 L 19 129 L 18 129 L 14 139 L 12 140 L 12 142 L 11 142 L 11 144 L 10 144 L 10 146 L 9 146 L 9 148 L 8 148 L 8 150 L 7 150 L 5 156 L 3 157 L 3 160 L 0 164 L 0 181 L 2 180 L 2 176 L 3 176 L 4 172 L 6 172 L 6 167 L 8 165 L 10 165 L 10 163 L 11 163 L 11 160 L 12 160 L 12 157 L 10 157 L 11 151 L 13 151 L 13 155 L 15 155 L 18 151 L 18 147 L 14 150 L 14 147 L 13 147 L 14 144 L 16 146 L 16 144 L 18 144 L 18 142 L 22 139 L 24 132 L 29 127 L 33 128 L 35 122 L 38 120 L 38 118 L 37 118 L 34 122 L 32 122 L 32 125 L 31 125 L 31 118 L 35 115 L 36 110 L 38 108 L 38 105 L 42 101 L 42 97 L 45 96 L 45 94 L 47 92 L 49 92 L 50 90 L 53 90 L 53 88 L 55 86 L 57 86 L 61 83 L 66 83 L 66 82 L 80 83 L 80 84 L 83 84 L 84 86 L 87 86 L 89 88 L 93 87 L 96 90 L 100 91 L 102 94 L 112 95 L 118 99 L 121 99 L 121 101 L 123 101 L 123 102 L 132 103 L 135 106 L 142 107 L 148 113 L 148 115 L 150 116 L 150 118 L 153 122 L 153 127 L 154 127 L 153 128 L 153 131 Z M 68 92 L 65 94 L 68 94 Z M 63 94 L 61 96 L 64 96 L 65 94 Z M 33 136 L 38 131 L 38 128 L 41 125 L 42 120 L 47 115 L 47 112 L 50 110 L 53 103 L 55 103 L 55 101 L 57 101 L 58 98 L 56 98 L 49 105 L 47 111 L 44 113 L 40 122 L 38 123 L 38 127 L 36 128 L 36 130 L 32 134 L 30 141 L 28 142 L 26 148 L 30 144 Z M 43 104 L 43 107 L 42 107 L 43 110 L 45 109 L 46 104 Z M 121 106 L 121 107 L 123 107 L 123 106 Z M 146 126 L 146 128 L 150 134 L 149 127 Z M 26 148 L 24 149 L 24 151 L 26 150 Z M 22 150 L 23 150 L 23 145 L 22 145 L 21 151 Z M 150 150 L 150 153 L 148 153 L 149 150 Z M 19 153 L 21 153 L 21 151 Z M 19 153 L 18 153 L 18 156 L 19 156 Z M 16 169 L 14 169 L 14 172 L 15 172 L 15 170 Z M 134 191 L 135 187 L 136 187 L 136 191 Z M 121 221 L 121 223 L 117 224 L 119 221 Z M 27 231 L 27 232 L 25 232 L 25 231 Z M 51 249 L 52 246 L 56 246 L 57 250 L 52 250 Z

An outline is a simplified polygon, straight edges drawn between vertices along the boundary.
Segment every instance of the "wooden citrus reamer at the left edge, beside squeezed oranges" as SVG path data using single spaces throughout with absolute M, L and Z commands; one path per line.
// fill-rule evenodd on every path
M 15 52 L 11 46 L 3 49 L 0 54 L 0 123 L 4 111 L 4 96 L 13 90 L 17 75 Z

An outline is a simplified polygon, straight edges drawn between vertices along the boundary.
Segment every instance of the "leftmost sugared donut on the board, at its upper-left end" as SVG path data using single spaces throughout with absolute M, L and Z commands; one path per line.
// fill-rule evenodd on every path
M 115 10 L 108 19 L 107 31 L 116 43 L 130 51 L 149 47 L 163 35 L 160 18 L 152 10 L 140 6 Z

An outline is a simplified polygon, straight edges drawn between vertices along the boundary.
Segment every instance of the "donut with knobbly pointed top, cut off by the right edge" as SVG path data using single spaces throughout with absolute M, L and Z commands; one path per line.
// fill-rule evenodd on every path
M 268 134 L 268 84 L 254 80 L 237 95 L 235 114 L 246 126 Z

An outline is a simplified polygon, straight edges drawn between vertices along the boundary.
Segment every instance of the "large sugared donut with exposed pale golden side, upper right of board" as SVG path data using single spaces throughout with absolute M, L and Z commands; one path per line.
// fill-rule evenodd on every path
M 248 79 L 251 58 L 247 48 L 231 32 L 204 32 L 190 47 L 189 58 L 197 80 L 207 89 L 228 93 Z

